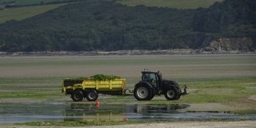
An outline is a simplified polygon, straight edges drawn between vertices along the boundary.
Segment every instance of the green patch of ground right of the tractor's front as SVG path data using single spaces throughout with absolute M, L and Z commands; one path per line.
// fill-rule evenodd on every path
M 248 98 L 256 95 L 256 77 L 231 77 L 231 78 L 183 78 L 176 79 L 181 84 L 187 84 L 192 92 L 185 95 L 176 103 L 223 103 L 239 98 Z M 162 101 L 155 101 L 157 104 Z

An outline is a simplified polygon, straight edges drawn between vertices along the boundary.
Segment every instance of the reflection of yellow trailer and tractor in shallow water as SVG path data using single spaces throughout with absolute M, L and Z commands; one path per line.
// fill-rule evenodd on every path
M 186 104 L 101 104 L 100 107 L 89 104 L 72 103 L 66 106 L 64 111 L 64 120 L 85 120 L 94 117 L 114 117 L 114 118 L 143 118 L 147 116 L 164 113 L 178 113 L 177 109 L 188 107 Z

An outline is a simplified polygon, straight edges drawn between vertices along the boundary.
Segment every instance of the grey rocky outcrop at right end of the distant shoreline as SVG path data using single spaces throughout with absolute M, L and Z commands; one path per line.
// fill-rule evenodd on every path
M 244 38 L 220 38 L 214 39 L 210 42 L 208 47 L 205 47 L 205 50 L 210 51 L 252 51 L 253 48 L 253 39 L 244 37 Z

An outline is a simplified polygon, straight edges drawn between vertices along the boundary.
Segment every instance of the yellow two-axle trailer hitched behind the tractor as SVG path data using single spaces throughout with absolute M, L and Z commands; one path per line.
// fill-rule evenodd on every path
M 122 95 L 125 90 L 125 78 L 110 77 L 99 80 L 93 77 L 80 80 L 66 79 L 62 83 L 62 92 L 71 95 L 73 101 L 82 101 L 86 98 L 89 101 L 98 99 L 98 93 L 108 95 Z

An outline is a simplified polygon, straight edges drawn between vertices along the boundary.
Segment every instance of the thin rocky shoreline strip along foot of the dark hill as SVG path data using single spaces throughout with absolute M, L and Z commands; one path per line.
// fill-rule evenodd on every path
M 203 49 L 134 50 L 134 51 L 40 51 L 0 52 L 0 56 L 62 56 L 62 55 L 209 55 L 209 54 L 256 54 L 256 51 L 205 51 Z

